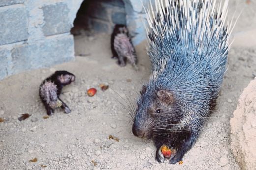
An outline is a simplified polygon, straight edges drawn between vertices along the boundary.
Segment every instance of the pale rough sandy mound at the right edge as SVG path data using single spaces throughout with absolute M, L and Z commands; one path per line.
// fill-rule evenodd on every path
M 239 97 L 231 119 L 231 148 L 244 170 L 256 170 L 256 79 Z

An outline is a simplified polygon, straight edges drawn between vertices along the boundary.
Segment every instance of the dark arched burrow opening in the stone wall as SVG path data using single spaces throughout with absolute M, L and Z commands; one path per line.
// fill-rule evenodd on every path
M 74 20 L 71 34 L 83 31 L 110 34 L 115 24 L 126 24 L 123 0 L 84 0 Z

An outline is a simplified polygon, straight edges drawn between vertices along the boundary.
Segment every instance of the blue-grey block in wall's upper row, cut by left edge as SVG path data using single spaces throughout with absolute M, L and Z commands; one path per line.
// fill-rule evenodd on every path
M 28 16 L 25 7 L 0 8 L 0 45 L 28 38 Z

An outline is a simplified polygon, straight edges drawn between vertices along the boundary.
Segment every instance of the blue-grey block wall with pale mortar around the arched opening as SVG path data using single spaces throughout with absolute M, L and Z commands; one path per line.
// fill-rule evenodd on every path
M 0 0 L 0 80 L 21 71 L 50 67 L 74 59 L 74 40 L 70 29 L 82 2 Z M 145 39 L 145 13 L 141 0 L 104 2 L 105 5 L 109 2 L 109 5 L 119 6 L 112 13 L 110 23 L 119 22 L 125 16 L 134 44 Z M 123 10 L 120 4 L 124 5 Z M 102 11 L 98 12 L 103 16 Z M 108 29 L 111 30 L 110 27 Z

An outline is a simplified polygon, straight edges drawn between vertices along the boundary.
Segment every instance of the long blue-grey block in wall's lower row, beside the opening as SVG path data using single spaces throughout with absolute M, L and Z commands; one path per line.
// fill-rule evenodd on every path
M 73 36 L 47 39 L 37 44 L 24 44 L 12 50 L 13 73 L 50 67 L 74 59 Z

